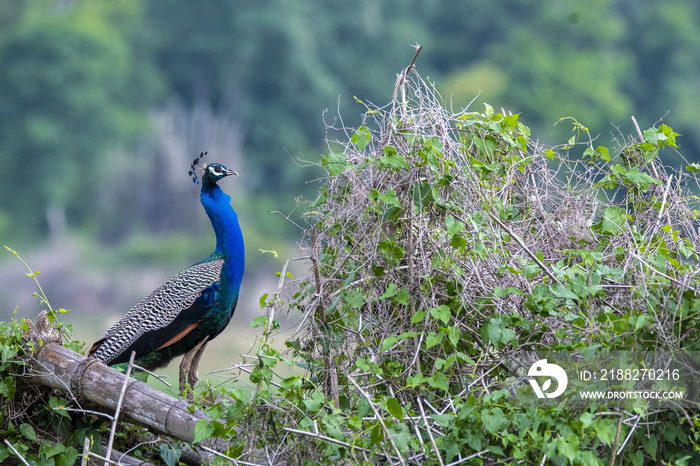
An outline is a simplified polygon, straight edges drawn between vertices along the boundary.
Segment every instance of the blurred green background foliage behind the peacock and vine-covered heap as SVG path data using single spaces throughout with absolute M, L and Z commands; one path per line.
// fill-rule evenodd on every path
M 278 268 L 258 249 L 295 254 L 284 216 L 303 221 L 296 198 L 318 189 L 304 166 L 327 151 L 325 125 L 357 124 L 355 96 L 388 101 L 409 44 L 424 46 L 418 69 L 455 111 L 478 95 L 475 109 L 520 112 L 549 144 L 571 136 L 553 126 L 565 116 L 596 145 L 633 134 L 631 115 L 642 128 L 663 117 L 692 162 L 698 24 L 694 0 L 2 2 L 0 238 L 44 271 L 54 307 L 116 317 L 213 247 L 187 176 L 208 150 L 243 175 L 224 188 L 255 312 L 269 291 L 257 277 Z M 17 305 L 33 316 L 11 254 L 0 280 L 0 318 Z

